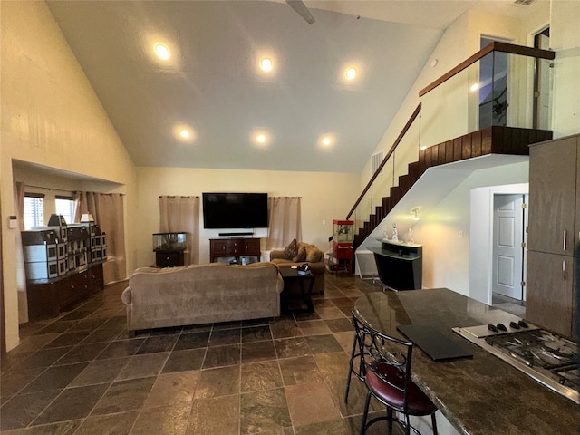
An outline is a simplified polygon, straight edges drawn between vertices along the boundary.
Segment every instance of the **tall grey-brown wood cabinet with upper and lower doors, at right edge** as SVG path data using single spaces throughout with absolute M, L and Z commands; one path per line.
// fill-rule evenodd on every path
M 550 140 L 529 157 L 526 318 L 574 340 L 579 145 L 579 135 Z

